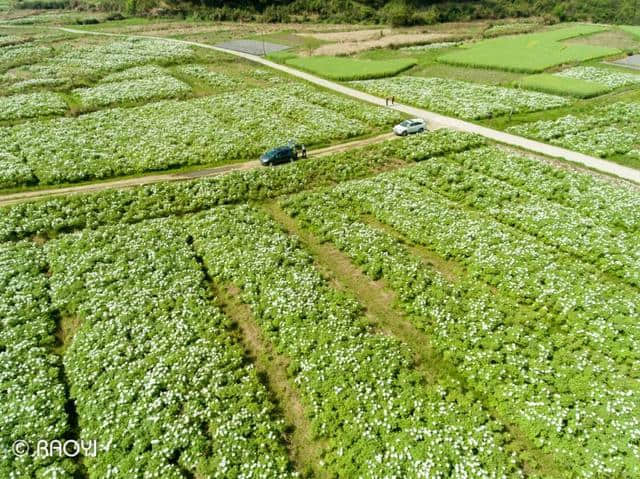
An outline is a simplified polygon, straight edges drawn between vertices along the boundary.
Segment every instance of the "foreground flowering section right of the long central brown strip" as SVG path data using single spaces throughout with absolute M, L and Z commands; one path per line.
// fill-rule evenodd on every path
M 501 417 L 557 454 L 565 473 L 634 477 L 640 388 L 630 368 L 640 346 L 640 292 L 633 236 L 533 188 L 475 173 L 471 165 L 490 156 L 505 162 L 493 149 L 470 150 L 303 194 L 285 207 L 391 285 L 441 353 Z M 464 275 L 452 282 L 425 269 L 377 222 L 457 262 Z

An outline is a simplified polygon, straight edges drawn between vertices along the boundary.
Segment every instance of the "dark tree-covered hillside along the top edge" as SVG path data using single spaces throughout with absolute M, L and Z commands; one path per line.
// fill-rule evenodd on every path
M 58 8 L 63 2 L 68 2 L 70 7 L 126 13 L 195 14 L 212 20 L 419 25 L 542 16 L 549 21 L 640 24 L 638 0 L 17 0 L 17 5 Z

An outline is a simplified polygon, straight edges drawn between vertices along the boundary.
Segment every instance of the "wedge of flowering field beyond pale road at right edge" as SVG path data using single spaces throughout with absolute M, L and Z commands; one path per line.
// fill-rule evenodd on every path
M 638 167 L 639 120 L 638 103 L 617 102 L 594 107 L 587 113 L 524 123 L 508 131 Z

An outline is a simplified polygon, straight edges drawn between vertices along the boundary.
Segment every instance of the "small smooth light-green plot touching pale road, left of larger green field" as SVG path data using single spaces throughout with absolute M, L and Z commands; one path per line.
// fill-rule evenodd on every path
M 318 56 L 292 58 L 286 63 L 331 80 L 350 81 L 393 76 L 408 70 L 417 62 L 413 58 L 359 60 L 348 57 Z

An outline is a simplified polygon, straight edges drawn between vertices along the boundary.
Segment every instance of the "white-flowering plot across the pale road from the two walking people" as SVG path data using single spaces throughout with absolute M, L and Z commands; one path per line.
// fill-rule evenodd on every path
M 546 93 L 480 85 L 443 78 L 400 76 L 352 82 L 351 85 L 379 96 L 468 119 L 491 118 L 509 113 L 558 108 L 566 98 Z

